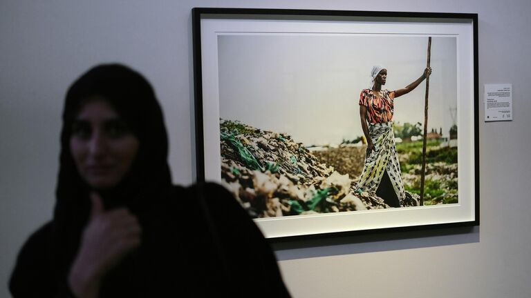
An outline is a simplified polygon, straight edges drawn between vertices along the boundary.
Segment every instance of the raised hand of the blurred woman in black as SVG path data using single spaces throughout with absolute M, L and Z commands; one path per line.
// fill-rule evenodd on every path
M 73 262 L 68 283 L 77 297 L 97 297 L 102 277 L 128 252 L 140 246 L 142 228 L 126 208 L 105 211 L 102 198 L 91 193 L 92 210 Z

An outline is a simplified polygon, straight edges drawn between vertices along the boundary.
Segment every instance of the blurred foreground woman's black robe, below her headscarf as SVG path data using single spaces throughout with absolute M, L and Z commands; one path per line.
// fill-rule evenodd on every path
M 289 297 L 245 210 L 221 186 L 206 184 L 204 192 L 206 210 L 194 186 L 171 188 L 144 212 L 140 248 L 106 275 L 100 297 Z M 53 222 L 22 248 L 10 279 L 13 297 L 71 297 L 50 248 Z

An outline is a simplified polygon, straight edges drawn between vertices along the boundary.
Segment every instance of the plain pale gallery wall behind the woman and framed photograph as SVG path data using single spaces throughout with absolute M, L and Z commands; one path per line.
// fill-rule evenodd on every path
M 169 128 L 174 181 L 192 183 L 193 7 L 478 13 L 481 226 L 274 248 L 294 297 L 531 297 L 528 0 L 2 0 L 0 297 L 10 297 L 21 244 L 51 218 L 64 93 L 91 66 L 126 63 L 153 83 Z M 481 121 L 485 83 L 512 83 L 513 121 Z

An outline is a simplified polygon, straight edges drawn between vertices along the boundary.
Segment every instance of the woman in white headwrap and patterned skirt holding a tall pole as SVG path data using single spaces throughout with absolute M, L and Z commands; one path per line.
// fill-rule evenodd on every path
M 402 89 L 382 90 L 387 79 L 384 66 L 371 71 L 371 88 L 360 95 L 360 118 L 367 140 L 365 163 L 357 189 L 373 192 L 391 207 L 404 205 L 405 192 L 393 133 L 394 100 L 415 89 L 431 74 L 431 68 Z

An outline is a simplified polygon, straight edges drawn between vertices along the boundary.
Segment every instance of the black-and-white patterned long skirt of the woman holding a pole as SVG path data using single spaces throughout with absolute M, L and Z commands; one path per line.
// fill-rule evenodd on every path
M 396 153 L 393 122 L 370 123 L 369 136 L 371 136 L 375 150 L 371 151 L 371 154 L 365 158 L 362 175 L 360 181 L 357 182 L 357 189 L 375 193 L 380 186 L 384 172 L 387 171 L 396 196 L 400 200 L 400 205 L 403 205 L 406 195 L 400 176 L 400 162 Z

